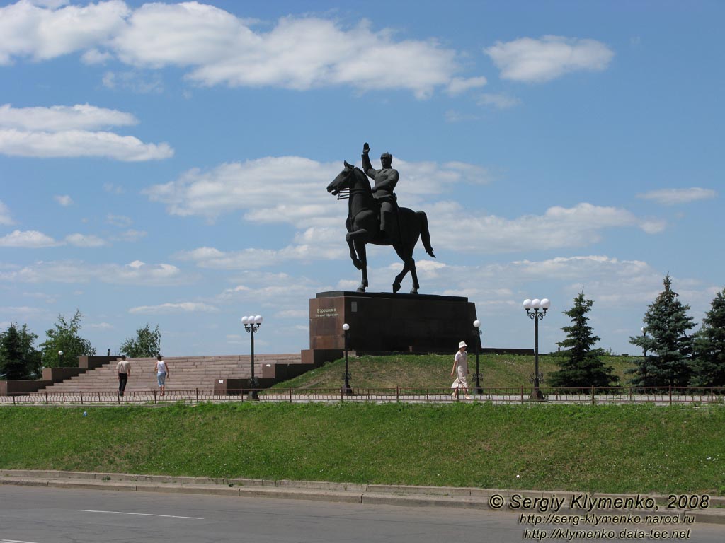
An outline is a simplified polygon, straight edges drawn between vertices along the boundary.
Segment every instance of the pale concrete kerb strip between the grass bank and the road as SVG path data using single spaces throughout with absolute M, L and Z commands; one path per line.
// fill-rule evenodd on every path
M 392 484 L 330 483 L 321 481 L 268 481 L 262 479 L 215 479 L 129 473 L 83 473 L 78 471 L 0 470 L 0 484 L 66 489 L 104 489 L 128 492 L 180 492 L 229 497 L 267 497 L 321 500 L 360 504 L 447 507 L 501 510 L 517 515 L 574 515 L 586 524 L 591 515 L 679 515 L 678 524 L 725 524 L 725 497 L 708 496 L 706 507 L 668 509 L 672 497 L 657 494 L 587 494 L 516 489 L 456 487 L 411 487 Z M 691 497 L 687 494 L 686 501 Z M 698 496 L 702 503 L 703 496 Z M 621 501 L 617 501 L 617 500 Z M 604 507 L 601 507 L 601 506 Z M 598 507 L 599 506 L 599 507 Z M 589 518 L 586 515 L 590 515 Z M 548 520 L 547 520 L 548 519 Z M 570 519 L 571 520 L 571 519 Z

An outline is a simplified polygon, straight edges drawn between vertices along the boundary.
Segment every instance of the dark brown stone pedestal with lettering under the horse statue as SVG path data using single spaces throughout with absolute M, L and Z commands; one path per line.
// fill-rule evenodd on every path
M 458 342 L 474 352 L 476 304 L 458 296 L 389 292 L 318 292 L 310 299 L 310 350 L 344 350 L 342 325 L 349 324 L 350 350 L 453 353 Z

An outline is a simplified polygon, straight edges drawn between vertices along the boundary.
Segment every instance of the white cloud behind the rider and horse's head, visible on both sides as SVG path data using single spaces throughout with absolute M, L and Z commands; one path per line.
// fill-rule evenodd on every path
M 492 179 L 485 168 L 460 161 L 437 164 L 394 159 L 393 166 L 405 172 L 405 185 L 397 190 L 402 198 L 442 193 L 460 182 L 485 184 Z M 244 211 L 250 221 L 324 228 L 344 222 L 347 214 L 347 206 L 335 206 L 334 198 L 325 190 L 341 169 L 339 163 L 268 156 L 222 164 L 207 172 L 191 169 L 178 180 L 152 185 L 142 193 L 167 204 L 173 215 L 214 220 L 222 214 Z

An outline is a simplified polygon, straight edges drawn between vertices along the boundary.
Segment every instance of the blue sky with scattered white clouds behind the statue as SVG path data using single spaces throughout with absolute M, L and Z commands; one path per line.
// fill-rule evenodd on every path
M 602 348 L 669 273 L 699 323 L 724 286 L 716 1 L 0 4 L 0 327 L 62 313 L 113 353 L 308 346 L 355 290 L 343 161 L 428 214 L 421 293 L 476 303 L 484 345 L 555 350 L 584 289 Z M 402 264 L 373 248 L 370 292 Z M 403 292 L 410 290 L 410 278 Z M 452 345 L 452 352 L 455 345 Z

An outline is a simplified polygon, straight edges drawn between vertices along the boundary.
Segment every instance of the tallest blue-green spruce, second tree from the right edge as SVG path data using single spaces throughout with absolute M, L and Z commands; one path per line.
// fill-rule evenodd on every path
M 645 313 L 645 333 L 629 338 L 632 345 L 647 353 L 637 366 L 627 371 L 633 375 L 631 383 L 639 387 L 687 387 L 689 384 L 693 338 L 687 331 L 695 328 L 695 323 L 687 315 L 689 306 L 678 300 L 677 292 L 671 289 L 669 274 L 663 285 L 665 290 Z

